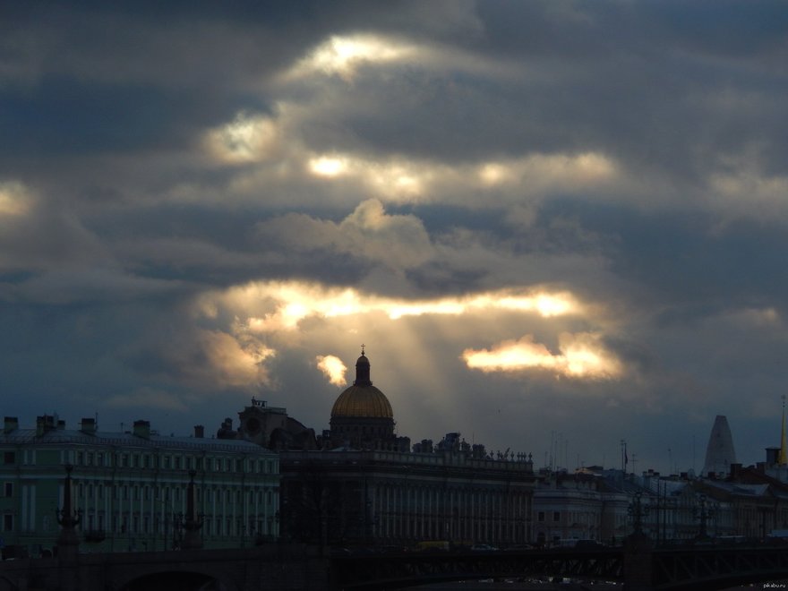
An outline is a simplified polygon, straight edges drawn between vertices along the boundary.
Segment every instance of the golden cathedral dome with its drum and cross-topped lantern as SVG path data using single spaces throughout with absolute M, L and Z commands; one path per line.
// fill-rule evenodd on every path
M 355 362 L 355 381 L 344 390 L 331 408 L 330 438 L 332 447 L 355 450 L 398 450 L 407 438 L 394 434 L 394 412 L 389 398 L 373 386 L 370 363 L 364 355 Z

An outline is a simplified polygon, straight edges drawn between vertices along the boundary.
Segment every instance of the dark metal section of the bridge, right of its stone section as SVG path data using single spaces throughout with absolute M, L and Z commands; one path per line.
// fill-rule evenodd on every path
M 627 591 L 724 589 L 788 578 L 788 544 L 686 545 L 402 553 L 345 556 L 332 565 L 332 588 L 373 591 L 450 580 L 537 578 L 623 583 Z

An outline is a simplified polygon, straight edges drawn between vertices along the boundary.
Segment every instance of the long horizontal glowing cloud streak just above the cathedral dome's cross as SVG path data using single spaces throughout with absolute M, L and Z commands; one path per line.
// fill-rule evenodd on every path
M 323 287 L 298 281 L 253 282 L 203 297 L 205 314 L 216 313 L 217 300 L 233 313 L 244 314 L 255 333 L 295 330 L 309 318 L 339 318 L 383 313 L 392 321 L 408 316 L 471 315 L 491 311 L 534 313 L 544 318 L 579 314 L 585 305 L 567 291 L 501 289 L 459 297 L 404 299 L 368 295 L 352 287 Z

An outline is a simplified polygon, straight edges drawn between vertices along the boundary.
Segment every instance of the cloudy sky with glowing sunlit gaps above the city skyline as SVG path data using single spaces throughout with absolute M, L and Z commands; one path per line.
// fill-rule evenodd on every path
M 0 391 L 22 426 L 329 427 L 697 472 L 779 445 L 784 2 L 0 7 Z

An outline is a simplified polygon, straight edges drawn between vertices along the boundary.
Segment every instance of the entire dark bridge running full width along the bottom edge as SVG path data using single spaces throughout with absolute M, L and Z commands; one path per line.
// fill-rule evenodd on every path
M 639 544 L 639 545 L 638 545 Z M 788 578 L 786 545 L 687 545 L 517 552 L 350 552 L 268 544 L 0 562 L 0 591 L 366 591 L 481 578 L 572 578 L 627 591 L 723 589 Z

